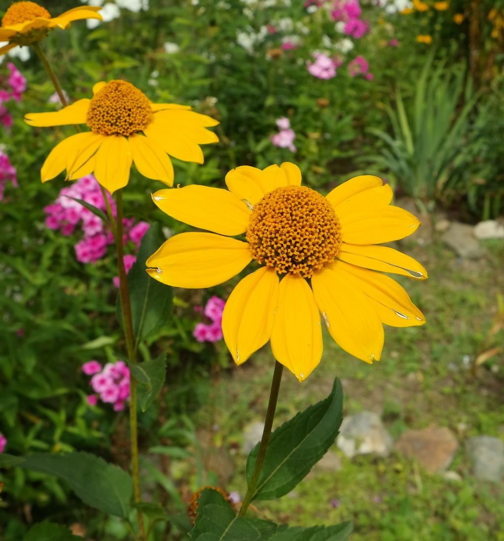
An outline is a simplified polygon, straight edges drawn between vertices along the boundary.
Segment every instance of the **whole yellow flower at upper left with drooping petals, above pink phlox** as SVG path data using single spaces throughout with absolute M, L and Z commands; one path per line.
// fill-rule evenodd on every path
M 42 182 L 66 169 L 66 180 L 95 173 L 110 193 L 126 186 L 131 163 L 140 174 L 173 186 L 170 156 L 203 163 L 200 144 L 219 139 L 205 129 L 218 122 L 190 110 L 189 105 L 152 103 L 125 81 L 97 83 L 93 97 L 78 100 L 53 113 L 30 113 L 31 126 L 86 123 L 91 131 L 72 135 L 51 150 L 42 170 Z

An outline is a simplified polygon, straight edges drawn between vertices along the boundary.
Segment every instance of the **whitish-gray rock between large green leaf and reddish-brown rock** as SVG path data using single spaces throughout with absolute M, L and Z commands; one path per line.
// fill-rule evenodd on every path
M 393 441 L 377 413 L 362 411 L 343 419 L 336 444 L 348 458 L 357 454 L 386 457 L 392 450 Z

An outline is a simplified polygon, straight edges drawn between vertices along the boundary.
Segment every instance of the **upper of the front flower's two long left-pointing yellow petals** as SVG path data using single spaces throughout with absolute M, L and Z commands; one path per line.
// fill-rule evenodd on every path
M 220 235 L 240 235 L 250 218 L 246 204 L 220 188 L 192 184 L 185 188 L 159 190 L 152 200 L 174 219 Z

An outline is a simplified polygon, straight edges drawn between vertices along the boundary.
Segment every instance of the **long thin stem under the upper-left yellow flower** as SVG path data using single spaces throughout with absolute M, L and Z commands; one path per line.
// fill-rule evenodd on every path
M 126 339 L 127 355 L 132 364 L 137 364 L 135 353 L 135 338 L 133 337 L 133 322 L 131 318 L 130 292 L 127 285 L 124 268 L 123 252 L 123 190 L 116 192 L 116 224 L 114 237 L 116 241 L 117 271 L 119 274 L 119 295 L 121 314 L 123 316 L 124 337 Z M 107 207 L 108 210 L 108 207 Z M 130 440 L 131 440 L 131 473 L 133 475 L 133 492 L 135 502 L 140 502 L 140 476 L 138 467 L 138 430 L 137 430 L 137 380 L 130 380 Z M 140 541 L 145 541 L 145 527 L 142 511 L 137 511 Z

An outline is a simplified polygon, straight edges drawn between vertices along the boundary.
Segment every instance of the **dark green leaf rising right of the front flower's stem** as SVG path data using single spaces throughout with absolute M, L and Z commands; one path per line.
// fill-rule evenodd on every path
M 280 498 L 306 476 L 338 436 L 342 407 L 343 391 L 340 381 L 335 379 L 333 390 L 325 400 L 298 413 L 271 434 L 254 499 Z M 259 444 L 248 455 L 248 483 L 258 451 Z

